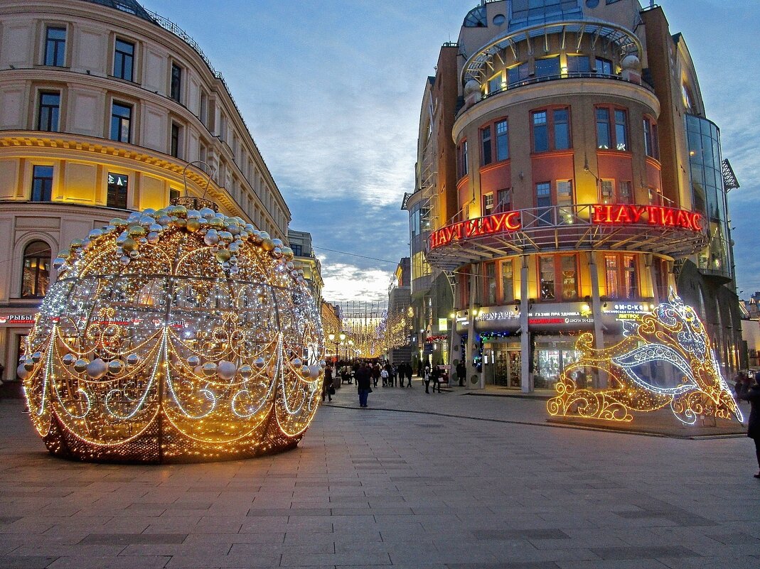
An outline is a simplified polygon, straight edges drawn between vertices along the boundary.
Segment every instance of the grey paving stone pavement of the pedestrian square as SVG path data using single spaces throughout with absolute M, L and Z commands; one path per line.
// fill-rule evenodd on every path
M 49 456 L 0 400 L 0 568 L 758 569 L 746 438 L 546 425 L 545 403 L 344 385 L 296 450 L 173 466 Z M 382 409 L 381 409 L 382 408 Z

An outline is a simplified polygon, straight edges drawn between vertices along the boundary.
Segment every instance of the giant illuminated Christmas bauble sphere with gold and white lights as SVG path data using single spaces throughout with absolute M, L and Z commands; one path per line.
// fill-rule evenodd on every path
M 239 217 L 179 205 L 75 239 L 18 368 L 49 451 L 162 463 L 296 446 L 325 346 L 292 258 Z

